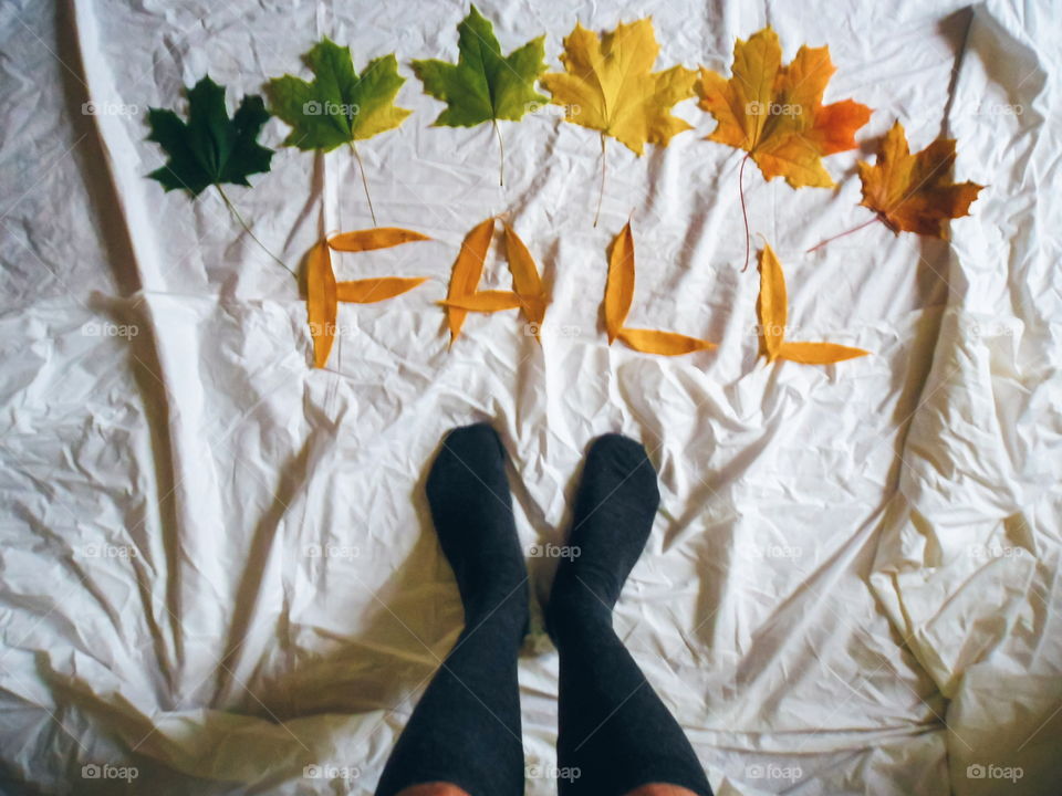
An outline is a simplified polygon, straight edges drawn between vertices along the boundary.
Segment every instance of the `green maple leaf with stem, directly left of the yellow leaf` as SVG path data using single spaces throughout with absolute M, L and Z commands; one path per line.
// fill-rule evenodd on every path
M 503 56 L 493 25 L 475 6 L 457 25 L 457 64 L 435 59 L 414 61 L 413 71 L 427 94 L 447 104 L 433 126 L 475 127 L 492 123 L 503 164 L 504 144 L 498 121 L 518 122 L 530 108 L 549 102 L 534 90 L 535 78 L 545 71 L 545 36 L 532 39 Z M 501 168 L 499 165 L 499 182 L 503 185 Z

